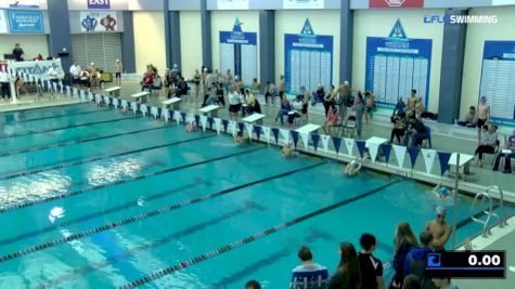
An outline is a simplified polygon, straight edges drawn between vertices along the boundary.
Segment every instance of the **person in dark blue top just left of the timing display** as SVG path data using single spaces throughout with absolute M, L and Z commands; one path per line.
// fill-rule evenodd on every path
M 430 288 L 430 279 L 426 279 L 424 271 L 427 264 L 427 254 L 433 252 L 433 248 L 429 245 L 433 242 L 433 235 L 429 231 L 424 231 L 419 237 L 421 246 L 419 248 L 412 248 L 405 255 L 404 260 L 404 284 L 408 280 L 408 275 L 413 274 L 421 280 L 422 288 Z M 426 287 L 428 286 L 428 287 Z

